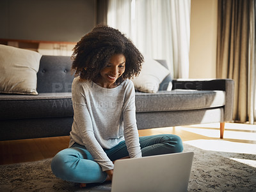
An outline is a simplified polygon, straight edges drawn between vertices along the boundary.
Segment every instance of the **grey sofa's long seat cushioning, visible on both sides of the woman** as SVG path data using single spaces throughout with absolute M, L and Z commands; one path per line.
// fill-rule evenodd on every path
M 225 91 L 136 92 L 136 112 L 196 110 L 225 105 Z M 0 94 L 0 119 L 73 116 L 71 92 L 38 96 Z M 38 110 L 40 109 L 40 110 Z

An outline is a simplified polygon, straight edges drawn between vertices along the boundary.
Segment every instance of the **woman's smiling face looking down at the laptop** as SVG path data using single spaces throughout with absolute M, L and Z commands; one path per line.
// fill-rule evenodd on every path
M 95 83 L 105 88 L 114 88 L 116 80 L 125 71 L 125 56 L 123 54 L 112 55 L 106 67 L 100 71 L 100 78 Z

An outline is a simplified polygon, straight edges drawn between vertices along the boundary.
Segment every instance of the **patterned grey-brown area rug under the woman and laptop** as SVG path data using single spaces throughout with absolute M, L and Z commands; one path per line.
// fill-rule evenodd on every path
M 188 191 L 256 191 L 256 166 L 234 160 L 255 160 L 256 155 L 204 151 L 188 144 L 184 144 L 184 151 L 195 152 Z M 110 182 L 88 184 L 80 189 L 78 184 L 61 181 L 51 172 L 51 159 L 0 166 L 0 191 L 102 191 L 110 188 Z

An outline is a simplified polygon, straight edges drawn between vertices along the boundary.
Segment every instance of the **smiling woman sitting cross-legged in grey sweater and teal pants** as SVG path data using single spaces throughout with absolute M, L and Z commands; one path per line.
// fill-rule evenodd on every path
M 143 55 L 124 34 L 97 26 L 77 43 L 72 57 L 74 122 L 68 149 L 52 159 L 56 177 L 84 187 L 111 180 L 116 159 L 182 152 L 176 135 L 138 136 L 129 79 L 140 73 Z

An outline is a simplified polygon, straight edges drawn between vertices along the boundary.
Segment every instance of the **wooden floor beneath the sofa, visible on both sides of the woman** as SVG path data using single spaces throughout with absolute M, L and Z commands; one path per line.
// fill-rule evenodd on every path
M 140 130 L 140 136 L 172 133 L 179 135 L 184 143 L 212 150 L 239 150 L 256 154 L 256 125 L 227 123 L 224 139 L 220 139 L 220 124 L 204 124 L 171 128 L 156 128 Z M 57 152 L 68 147 L 69 137 L 35 138 L 26 140 L 9 140 L 0 142 L 0 165 L 38 161 L 52 158 Z M 218 144 L 221 144 L 218 147 Z M 202 145 L 202 146 L 200 146 Z M 223 146 L 226 145 L 226 146 Z M 216 147 L 217 146 L 217 147 Z

